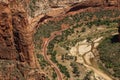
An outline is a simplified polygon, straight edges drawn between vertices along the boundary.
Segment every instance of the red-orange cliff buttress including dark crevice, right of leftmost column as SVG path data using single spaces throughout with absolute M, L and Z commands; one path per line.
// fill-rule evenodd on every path
M 20 61 L 28 62 L 33 67 L 35 66 L 33 32 L 26 16 L 25 12 L 14 12 L 12 15 L 14 42 Z

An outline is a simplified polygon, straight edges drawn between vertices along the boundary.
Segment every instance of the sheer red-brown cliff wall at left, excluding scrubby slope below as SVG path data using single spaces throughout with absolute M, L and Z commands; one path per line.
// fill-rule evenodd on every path
M 19 60 L 35 66 L 33 32 L 27 14 L 0 3 L 0 58 Z

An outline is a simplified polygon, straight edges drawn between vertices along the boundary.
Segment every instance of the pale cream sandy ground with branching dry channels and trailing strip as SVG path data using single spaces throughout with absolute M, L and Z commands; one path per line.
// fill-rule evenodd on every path
M 96 80 L 112 80 L 108 75 L 106 75 L 103 71 L 101 71 L 98 68 L 93 67 L 93 63 L 91 63 L 90 59 L 94 58 L 94 53 L 92 53 L 92 48 L 94 49 L 99 45 L 100 40 L 102 40 L 103 37 L 99 37 L 97 39 L 94 39 L 92 45 L 91 43 L 88 43 L 87 40 L 81 41 L 76 44 L 75 47 L 72 47 L 70 50 L 70 54 L 73 56 L 77 56 L 76 62 L 82 63 L 85 67 L 87 67 L 88 70 L 92 70 L 95 74 Z

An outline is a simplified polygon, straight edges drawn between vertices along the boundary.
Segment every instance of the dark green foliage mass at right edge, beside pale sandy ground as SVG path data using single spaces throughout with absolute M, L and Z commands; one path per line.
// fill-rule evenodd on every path
M 99 45 L 100 60 L 108 70 L 113 69 L 112 75 L 120 78 L 120 43 L 112 40 L 113 37 L 106 38 Z

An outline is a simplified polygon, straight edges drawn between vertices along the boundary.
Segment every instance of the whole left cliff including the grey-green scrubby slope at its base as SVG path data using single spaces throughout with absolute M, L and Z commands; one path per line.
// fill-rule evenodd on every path
M 45 80 L 36 69 L 27 12 L 10 4 L 0 2 L 0 80 Z

